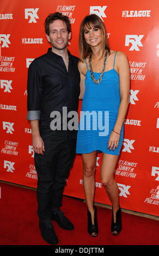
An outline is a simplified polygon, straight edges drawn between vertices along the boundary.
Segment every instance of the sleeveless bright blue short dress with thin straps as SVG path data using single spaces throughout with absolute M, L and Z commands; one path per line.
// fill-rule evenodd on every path
M 116 54 L 117 52 L 115 56 Z M 100 74 L 94 72 L 96 80 L 99 79 Z M 93 82 L 88 69 L 85 75 L 85 92 L 77 132 L 77 154 L 88 154 L 95 150 L 111 155 L 120 154 L 124 124 L 121 128 L 118 148 L 114 151 L 108 149 L 108 140 L 117 120 L 119 105 L 119 75 L 114 69 L 114 64 L 113 69 L 104 72 L 99 84 Z

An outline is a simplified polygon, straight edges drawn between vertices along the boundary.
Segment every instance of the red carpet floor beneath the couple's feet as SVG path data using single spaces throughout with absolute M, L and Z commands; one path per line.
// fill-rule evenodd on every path
M 48 245 L 40 235 L 36 192 L 3 182 L 0 187 L 0 245 Z M 123 229 L 118 236 L 113 236 L 111 210 L 97 207 L 99 235 L 94 238 L 87 233 L 85 203 L 64 196 L 62 210 L 75 229 L 62 230 L 53 222 L 58 245 L 158 245 L 158 221 L 123 212 Z

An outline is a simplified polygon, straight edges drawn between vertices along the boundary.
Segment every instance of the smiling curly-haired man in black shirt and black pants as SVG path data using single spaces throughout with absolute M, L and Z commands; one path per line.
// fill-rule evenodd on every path
M 65 180 L 75 159 L 77 129 L 69 130 L 63 124 L 68 121 L 68 112 L 78 111 L 80 76 L 77 68 L 79 59 L 67 49 L 71 38 L 68 17 L 60 13 L 48 15 L 45 32 L 52 47 L 29 66 L 27 119 L 32 129 L 38 174 L 39 227 L 43 239 L 56 244 L 58 237 L 51 220 L 57 221 L 63 229 L 74 229 L 60 211 L 60 206 Z M 60 126 L 52 123 L 57 112 Z

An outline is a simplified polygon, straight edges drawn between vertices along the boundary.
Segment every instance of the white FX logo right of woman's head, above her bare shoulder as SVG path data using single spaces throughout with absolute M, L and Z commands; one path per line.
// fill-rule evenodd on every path
M 142 45 L 142 38 L 144 35 L 126 35 L 125 37 L 125 46 L 129 46 L 129 44 L 132 44 L 132 46 L 130 47 L 129 51 L 139 51 L 139 47 L 138 46 L 143 46 Z

